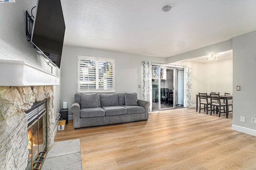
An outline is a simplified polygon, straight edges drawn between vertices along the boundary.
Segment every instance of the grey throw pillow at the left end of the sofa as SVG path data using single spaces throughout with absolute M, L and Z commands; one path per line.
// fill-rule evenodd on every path
M 99 107 L 97 93 L 81 94 L 81 109 L 88 107 Z

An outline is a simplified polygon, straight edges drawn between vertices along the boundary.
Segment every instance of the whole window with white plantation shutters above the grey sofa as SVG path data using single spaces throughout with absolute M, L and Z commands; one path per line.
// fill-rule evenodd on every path
M 114 92 L 114 61 L 78 56 L 78 92 Z

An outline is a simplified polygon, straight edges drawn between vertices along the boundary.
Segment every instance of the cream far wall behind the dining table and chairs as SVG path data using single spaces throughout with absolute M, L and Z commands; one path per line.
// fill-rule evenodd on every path
M 196 104 L 196 94 L 220 92 L 232 93 L 233 61 L 232 59 L 197 63 L 180 61 L 172 64 L 189 65 L 192 72 L 192 104 Z

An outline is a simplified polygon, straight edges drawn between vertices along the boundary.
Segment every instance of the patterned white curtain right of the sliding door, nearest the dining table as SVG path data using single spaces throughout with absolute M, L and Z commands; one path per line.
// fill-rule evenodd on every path
M 184 107 L 192 106 L 191 66 L 184 66 Z

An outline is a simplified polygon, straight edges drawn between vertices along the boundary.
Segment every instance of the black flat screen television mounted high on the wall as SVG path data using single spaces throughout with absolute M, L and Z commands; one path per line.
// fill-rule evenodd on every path
M 65 29 L 60 0 L 37 0 L 31 42 L 38 53 L 59 68 Z

